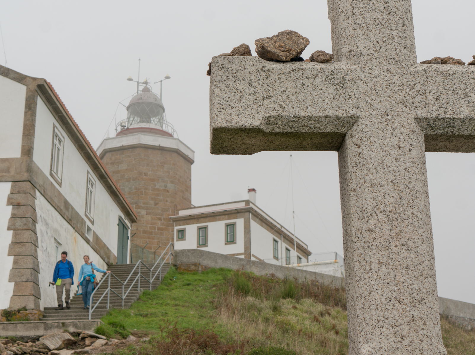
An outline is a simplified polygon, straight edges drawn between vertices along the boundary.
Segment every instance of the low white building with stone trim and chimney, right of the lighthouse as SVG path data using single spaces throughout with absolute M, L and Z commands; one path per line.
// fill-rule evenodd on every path
M 308 262 L 312 253 L 256 205 L 256 190 L 249 200 L 181 209 L 172 216 L 175 249 L 203 248 L 267 263 L 290 265 Z

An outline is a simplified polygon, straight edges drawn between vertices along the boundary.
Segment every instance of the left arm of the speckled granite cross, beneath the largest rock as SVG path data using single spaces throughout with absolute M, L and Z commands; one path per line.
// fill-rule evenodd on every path
M 337 150 L 357 121 L 345 65 L 214 57 L 209 92 L 212 154 Z M 355 85 L 356 86 L 356 85 Z M 350 90 L 352 91 L 352 90 Z

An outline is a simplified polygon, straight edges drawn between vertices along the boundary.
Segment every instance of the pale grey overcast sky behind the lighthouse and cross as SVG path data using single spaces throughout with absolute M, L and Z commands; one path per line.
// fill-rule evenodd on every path
M 414 0 L 412 5 L 419 62 L 447 55 L 472 59 L 474 1 Z M 51 82 L 94 147 L 114 113 L 125 118 L 118 101 L 133 94 L 134 84 L 125 79 L 137 79 L 140 57 L 141 79 L 171 76 L 163 84 L 163 103 L 180 139 L 196 152 L 193 204 L 246 199 L 253 187 L 257 204 L 292 228 L 290 152 L 209 154 L 206 70 L 213 55 L 241 43 L 255 55 L 255 39 L 285 29 L 310 39 L 304 58 L 315 50 L 331 53 L 325 0 L 0 0 L 0 9 L 8 66 Z M 0 52 L 5 64 L 2 46 Z M 343 254 L 337 154 L 292 155 L 297 236 L 314 253 Z M 438 292 L 475 303 L 475 153 L 426 156 Z

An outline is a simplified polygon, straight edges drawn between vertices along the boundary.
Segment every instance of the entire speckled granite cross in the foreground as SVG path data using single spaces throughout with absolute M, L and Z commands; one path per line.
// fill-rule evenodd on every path
M 425 152 L 475 152 L 475 65 L 417 64 L 410 0 L 328 15 L 334 63 L 212 59 L 211 153 L 337 151 L 350 354 L 446 354 Z

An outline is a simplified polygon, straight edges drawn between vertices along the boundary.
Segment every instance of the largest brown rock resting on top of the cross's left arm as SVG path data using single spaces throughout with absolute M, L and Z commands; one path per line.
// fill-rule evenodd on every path
M 310 41 L 307 37 L 286 29 L 272 37 L 258 38 L 254 43 L 259 58 L 272 62 L 290 62 L 302 54 Z

